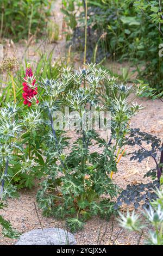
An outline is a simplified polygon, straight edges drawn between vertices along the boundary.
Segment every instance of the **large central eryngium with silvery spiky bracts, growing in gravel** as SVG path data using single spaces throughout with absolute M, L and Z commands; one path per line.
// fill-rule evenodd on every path
M 122 85 L 118 86 L 114 79 L 110 83 L 110 79 L 107 71 L 90 64 L 84 70 L 64 69 L 60 80 L 40 82 L 44 94 L 37 108 L 44 113 L 42 168 L 46 178 L 37 193 L 37 202 L 44 215 L 66 218 L 71 231 L 83 228 L 84 221 L 93 215 L 109 218 L 114 212 L 117 187 L 110 173 L 117 171 L 116 150 L 123 147 L 129 121 L 141 108 L 128 100 L 129 90 L 139 94 L 140 88 L 125 87 L 125 93 Z M 119 90 L 118 99 L 98 93 L 104 82 Z M 86 127 L 71 131 L 73 140 L 67 138 L 65 131 L 53 125 L 53 112 L 64 106 L 79 113 L 79 124 L 85 112 L 109 111 L 111 134 L 107 136 L 105 125 L 106 136 L 100 137 L 95 129 Z

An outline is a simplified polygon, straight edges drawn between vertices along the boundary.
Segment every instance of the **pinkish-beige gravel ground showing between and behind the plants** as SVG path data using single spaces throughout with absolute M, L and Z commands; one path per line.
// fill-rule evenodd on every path
M 59 11 L 60 1 L 55 2 L 55 19 L 61 24 L 61 13 Z M 61 27 L 60 27 L 61 29 Z M 42 48 L 41 48 L 42 47 Z M 60 36 L 58 44 L 49 44 L 48 42 L 38 42 L 30 44 L 28 51 L 26 52 L 26 58 L 33 62 L 39 58 L 37 49 L 40 48 L 46 51 L 51 51 L 54 48 L 53 58 L 64 52 L 65 39 Z M 12 45 L 9 41 L 5 45 L 5 51 L 8 52 L 8 56 L 16 54 L 19 60 L 24 58 L 24 50 L 27 48 L 27 43 L 22 42 L 20 44 Z M 153 135 L 163 138 L 163 104 L 159 100 L 146 100 L 137 99 L 138 103 L 142 103 L 145 107 L 139 114 L 131 120 L 132 127 L 139 127 L 141 131 L 152 133 Z M 134 151 L 133 148 L 128 147 L 127 153 Z M 148 161 L 148 162 L 147 162 Z M 138 162 L 130 162 L 129 156 L 122 157 L 120 163 L 118 163 L 118 173 L 113 175 L 113 180 L 120 187 L 124 188 L 127 184 L 141 182 L 143 175 L 147 172 L 149 167 L 154 166 L 153 160 L 145 160 L 141 164 Z M 145 179 L 148 181 L 148 179 Z M 8 208 L 0 211 L 0 214 L 9 220 L 12 225 L 21 233 L 28 230 L 41 227 L 60 227 L 64 228 L 65 223 L 55 220 L 54 218 L 46 218 L 41 214 L 41 210 L 37 208 L 36 204 L 36 192 L 38 190 L 38 182 L 32 191 L 24 189 L 20 192 L 20 198 L 8 200 Z M 124 206 L 122 211 L 126 211 Z M 145 235 L 148 235 L 148 228 L 144 231 Z M 78 245 L 136 245 L 140 235 L 135 233 L 128 233 L 118 225 L 116 218 L 111 218 L 109 222 L 101 220 L 101 218 L 93 217 L 87 221 L 82 231 L 75 234 Z M 143 237 L 140 244 L 143 243 Z M 1 236 L 0 229 L 0 245 L 13 245 L 15 240 L 8 239 Z

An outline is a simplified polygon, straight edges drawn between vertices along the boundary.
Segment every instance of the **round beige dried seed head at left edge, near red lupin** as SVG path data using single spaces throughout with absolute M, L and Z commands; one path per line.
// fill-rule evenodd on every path
M 16 70 L 19 64 L 15 57 L 6 57 L 0 64 L 1 72 L 8 72 L 12 70 Z

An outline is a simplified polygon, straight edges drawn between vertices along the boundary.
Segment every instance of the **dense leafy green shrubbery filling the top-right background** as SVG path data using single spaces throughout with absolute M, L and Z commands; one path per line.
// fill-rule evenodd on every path
M 76 17 L 78 25 L 74 28 L 73 43 L 76 42 L 83 54 L 84 7 L 82 10 Z M 162 35 L 158 1 L 88 1 L 87 60 L 101 62 L 109 57 L 117 62 L 129 61 L 139 78 L 158 92 L 163 81 L 163 64 L 159 57 Z

